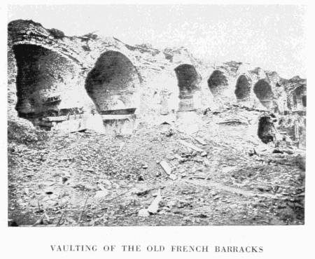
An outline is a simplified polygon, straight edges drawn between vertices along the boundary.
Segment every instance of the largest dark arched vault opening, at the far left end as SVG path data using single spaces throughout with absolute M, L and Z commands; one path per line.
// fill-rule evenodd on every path
M 72 87 L 76 78 L 73 62 L 38 45 L 14 45 L 13 52 L 18 67 L 15 106 L 18 115 L 32 119 L 59 113 L 61 92 Z

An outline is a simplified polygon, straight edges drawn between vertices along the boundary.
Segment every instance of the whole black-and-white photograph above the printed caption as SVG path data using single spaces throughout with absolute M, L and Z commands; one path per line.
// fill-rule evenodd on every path
M 8 6 L 8 226 L 304 225 L 305 13 Z

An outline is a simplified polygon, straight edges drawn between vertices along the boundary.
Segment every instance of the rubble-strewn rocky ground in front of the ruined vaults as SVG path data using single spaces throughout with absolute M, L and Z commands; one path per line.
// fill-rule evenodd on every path
M 129 137 L 9 122 L 9 224 L 304 224 L 302 155 L 261 145 L 210 116 L 193 134 L 141 123 Z

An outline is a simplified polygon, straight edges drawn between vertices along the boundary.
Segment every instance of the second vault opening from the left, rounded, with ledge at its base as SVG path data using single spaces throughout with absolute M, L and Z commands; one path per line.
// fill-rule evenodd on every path
M 87 74 L 85 89 L 101 114 L 130 114 L 139 106 L 140 78 L 130 59 L 109 50 Z

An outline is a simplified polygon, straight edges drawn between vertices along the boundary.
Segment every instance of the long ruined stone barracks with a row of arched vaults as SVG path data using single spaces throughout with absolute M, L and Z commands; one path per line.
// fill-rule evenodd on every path
M 31 20 L 8 24 L 8 120 L 130 134 L 139 122 L 191 123 L 229 109 L 217 123 L 255 132 L 265 143 L 274 140 L 266 132 L 282 132 L 301 147 L 306 106 L 299 76 L 284 79 L 241 62 L 204 64 L 185 48 L 65 36 Z

